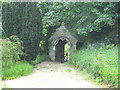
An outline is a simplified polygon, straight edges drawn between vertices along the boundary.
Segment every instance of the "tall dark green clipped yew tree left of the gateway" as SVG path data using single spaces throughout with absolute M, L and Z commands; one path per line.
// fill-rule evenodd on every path
M 39 52 L 41 16 L 36 2 L 2 3 L 2 25 L 7 37 L 17 35 L 22 41 L 22 59 L 33 60 Z

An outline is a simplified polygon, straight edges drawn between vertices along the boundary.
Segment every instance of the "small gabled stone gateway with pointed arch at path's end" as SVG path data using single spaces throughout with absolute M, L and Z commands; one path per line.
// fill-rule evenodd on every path
M 52 61 L 64 62 L 64 46 L 67 43 L 70 46 L 70 54 L 76 50 L 77 43 L 81 43 L 81 38 L 71 35 L 66 29 L 65 25 L 62 24 L 56 32 L 49 39 L 49 57 Z

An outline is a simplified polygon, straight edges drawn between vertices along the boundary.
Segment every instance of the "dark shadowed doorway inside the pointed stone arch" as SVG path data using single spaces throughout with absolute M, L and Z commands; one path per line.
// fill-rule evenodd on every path
M 57 45 L 56 45 L 56 49 L 55 49 L 55 61 L 58 62 L 64 62 L 64 49 L 65 49 L 65 44 L 67 43 L 67 41 L 64 40 L 59 40 Z

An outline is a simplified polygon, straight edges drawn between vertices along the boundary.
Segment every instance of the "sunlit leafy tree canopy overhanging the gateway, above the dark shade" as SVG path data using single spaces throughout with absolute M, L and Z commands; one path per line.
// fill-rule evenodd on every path
M 112 2 L 41 2 L 39 3 L 45 27 L 59 26 L 65 22 L 80 35 L 100 32 L 104 25 L 114 26 L 117 3 Z

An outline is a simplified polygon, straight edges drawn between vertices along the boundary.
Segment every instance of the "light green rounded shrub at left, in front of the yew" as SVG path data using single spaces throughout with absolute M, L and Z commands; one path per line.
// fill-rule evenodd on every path
M 12 41 L 11 41 L 11 40 Z M 23 55 L 23 47 L 17 36 L 11 36 L 10 39 L 2 39 L 2 66 L 9 67 L 20 60 L 20 55 Z

